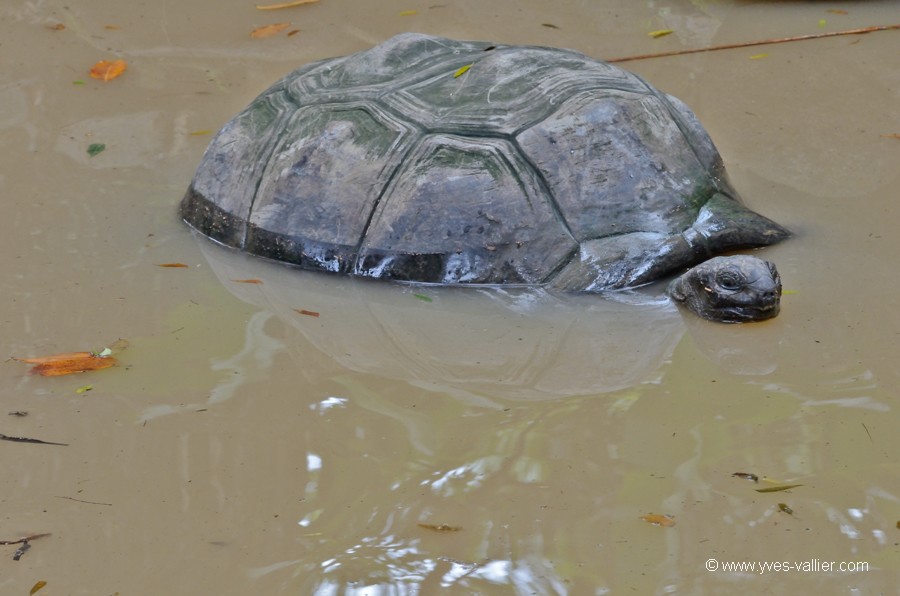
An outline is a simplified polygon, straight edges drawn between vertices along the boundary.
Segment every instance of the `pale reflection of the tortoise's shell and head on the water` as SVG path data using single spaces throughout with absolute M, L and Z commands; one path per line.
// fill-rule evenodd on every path
M 657 382 L 686 329 L 682 313 L 658 292 L 605 299 L 533 288 L 385 284 L 291 270 L 198 242 L 231 293 L 275 314 L 347 369 L 473 403 L 597 395 Z M 732 372 L 774 369 L 771 352 L 744 349 L 758 335 L 690 324 L 707 356 Z

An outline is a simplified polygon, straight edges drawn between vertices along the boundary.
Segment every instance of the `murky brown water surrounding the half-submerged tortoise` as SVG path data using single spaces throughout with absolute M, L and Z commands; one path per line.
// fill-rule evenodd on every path
M 627 65 L 796 232 L 765 251 L 790 291 L 765 324 L 682 318 L 653 289 L 300 274 L 175 215 L 194 133 L 397 32 L 614 57 L 900 22 L 892 2 L 84 4 L 0 8 L 0 352 L 130 345 L 82 376 L 0 367 L 0 432 L 68 444 L 0 442 L 0 539 L 51 533 L 0 547 L 0 592 L 896 593 L 896 32 Z M 300 32 L 248 37 L 280 21 Z M 87 76 L 113 57 L 123 77 Z

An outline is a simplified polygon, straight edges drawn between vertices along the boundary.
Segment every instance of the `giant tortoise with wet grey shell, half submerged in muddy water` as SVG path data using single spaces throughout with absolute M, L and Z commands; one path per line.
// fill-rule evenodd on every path
M 181 215 L 255 255 L 410 282 L 602 292 L 702 263 L 669 295 L 729 322 L 775 316 L 781 282 L 756 257 L 708 259 L 788 236 L 641 77 L 412 33 L 263 92 L 212 140 Z

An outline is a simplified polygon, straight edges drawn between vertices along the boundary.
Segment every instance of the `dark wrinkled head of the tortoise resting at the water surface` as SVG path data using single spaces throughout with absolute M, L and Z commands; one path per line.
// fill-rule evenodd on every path
M 781 277 L 757 257 L 715 257 L 672 281 L 667 293 L 710 321 L 762 321 L 778 314 Z

